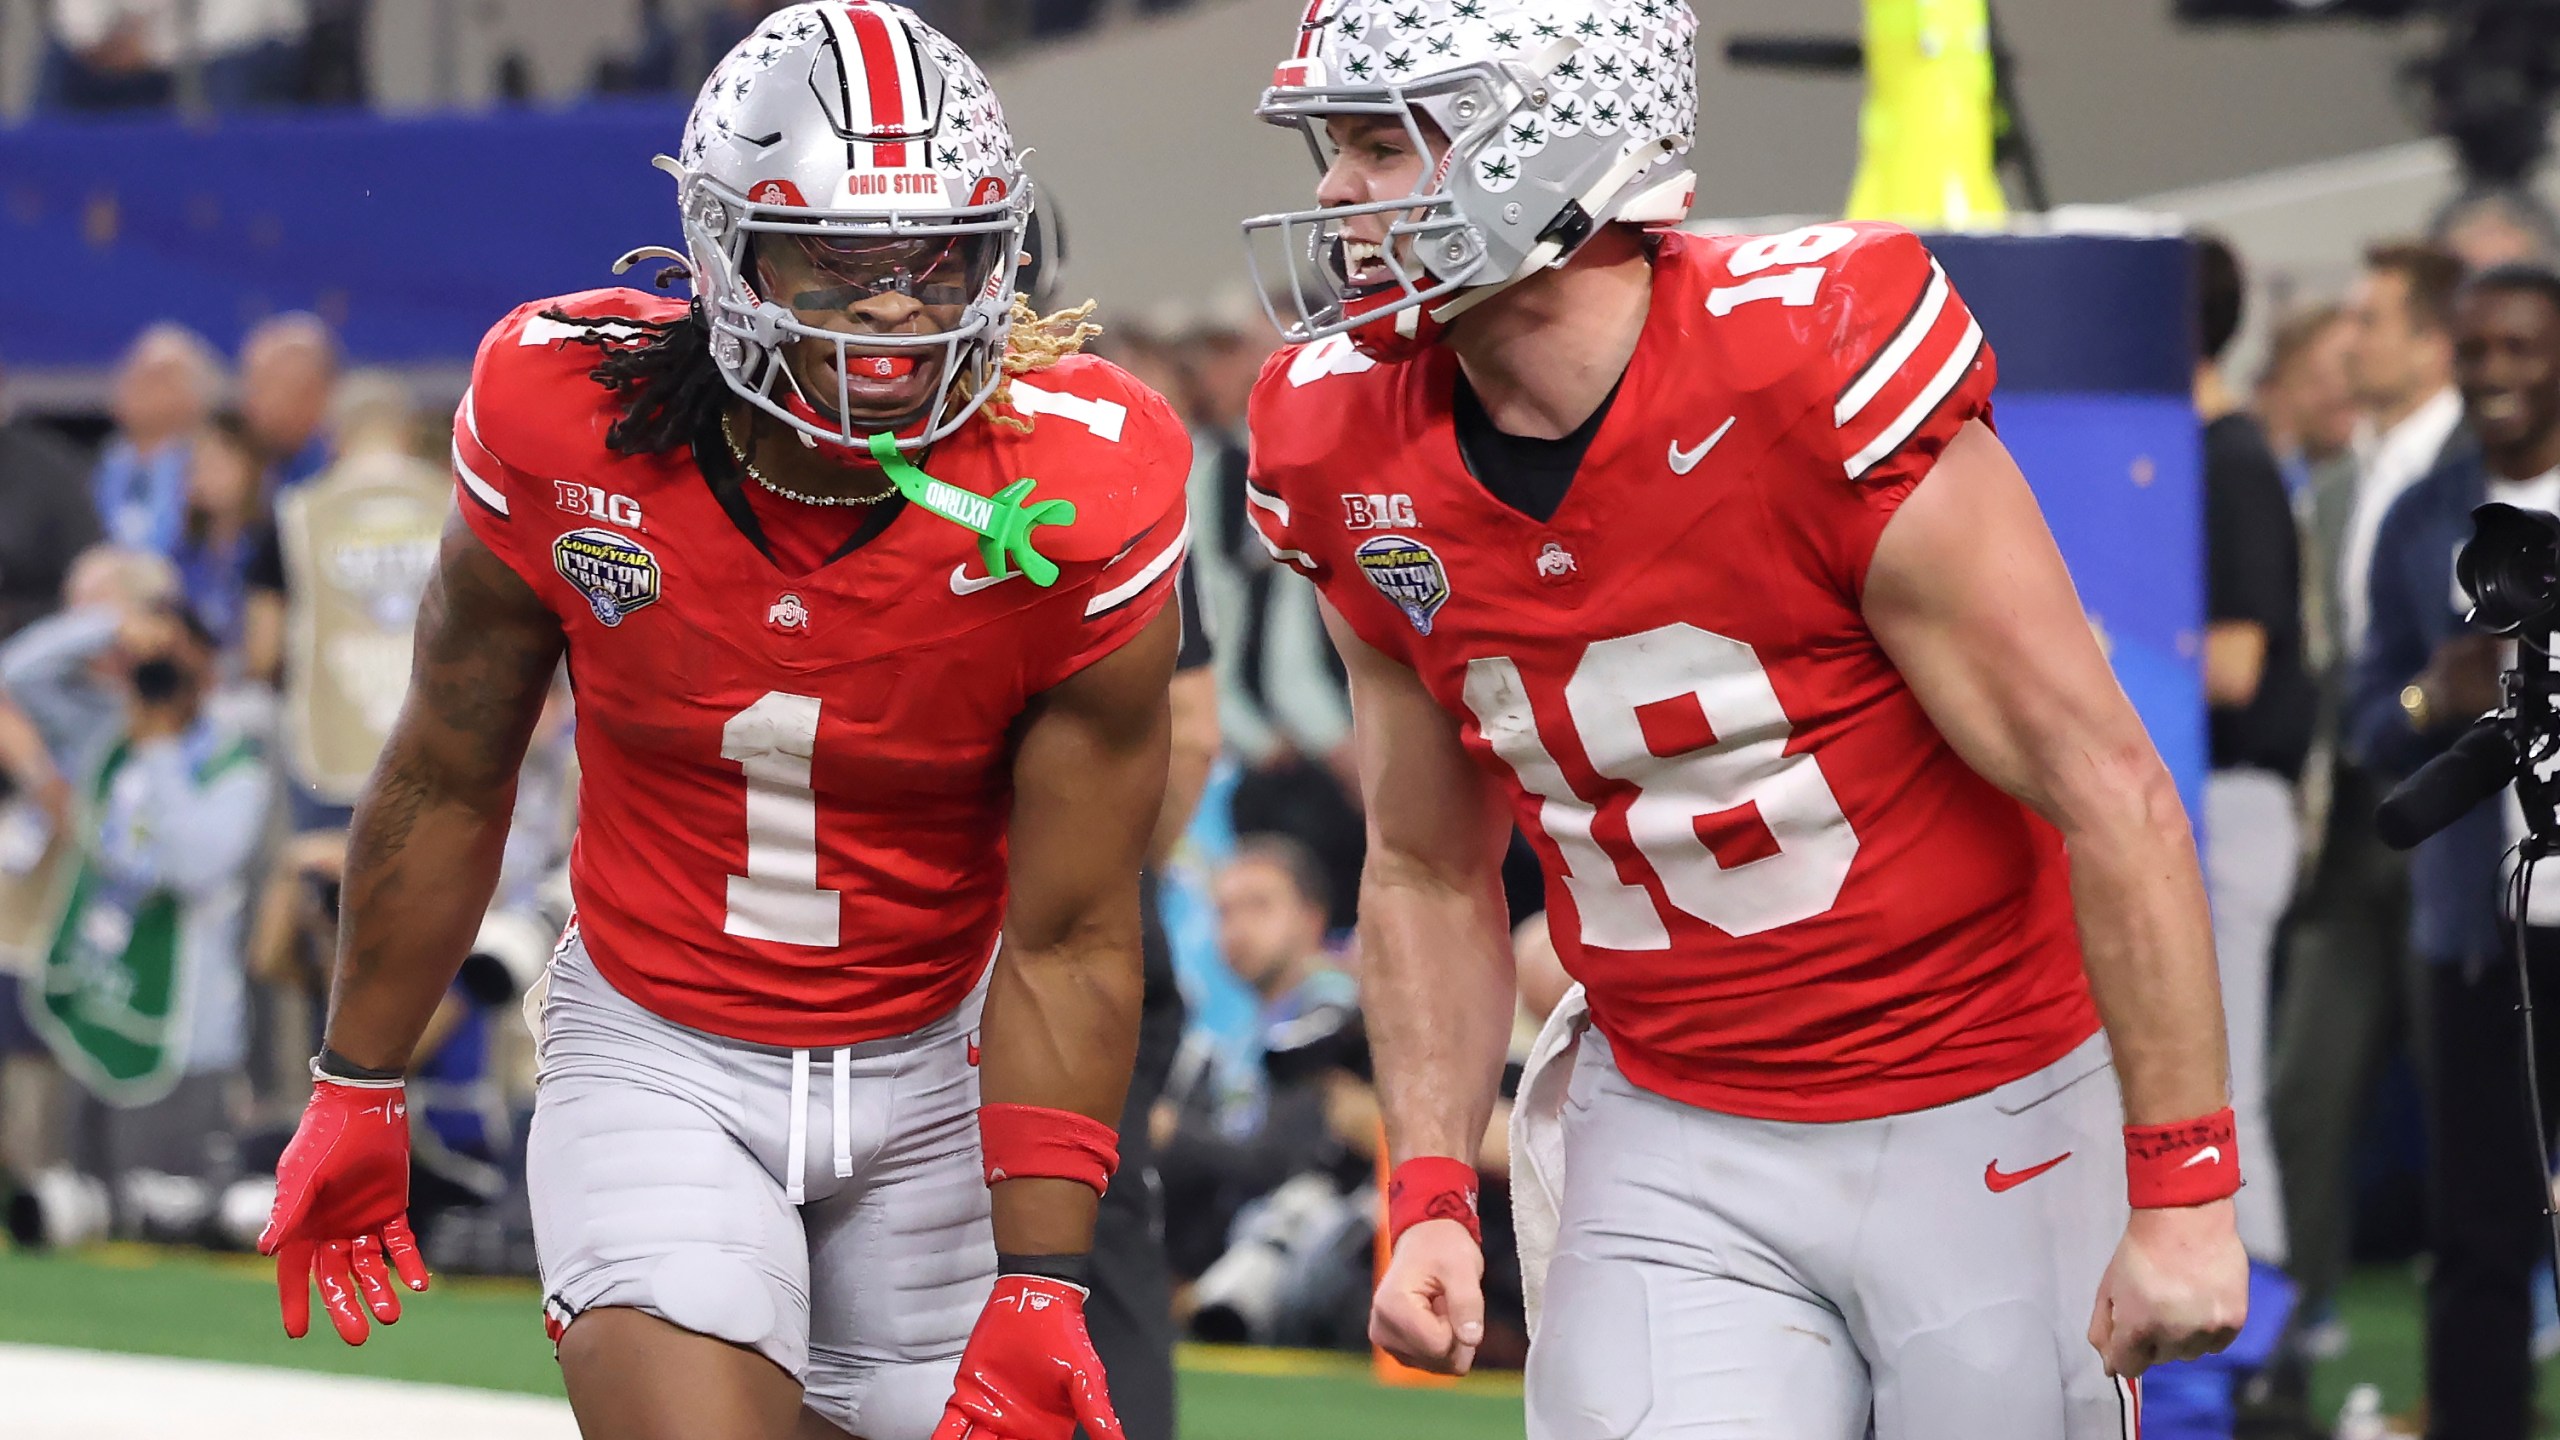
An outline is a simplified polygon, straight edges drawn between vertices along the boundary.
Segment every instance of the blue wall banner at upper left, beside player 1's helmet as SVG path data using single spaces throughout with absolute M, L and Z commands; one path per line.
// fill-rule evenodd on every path
M 0 128 L 0 364 L 105 366 L 156 320 L 233 348 L 317 310 L 358 361 L 463 364 L 507 310 L 681 243 L 684 105 Z

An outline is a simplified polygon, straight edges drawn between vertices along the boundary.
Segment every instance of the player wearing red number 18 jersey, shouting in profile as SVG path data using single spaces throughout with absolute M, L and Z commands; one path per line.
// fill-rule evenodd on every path
M 1531 1437 L 2130 1432 L 2245 1307 L 2214 956 L 1964 300 L 1887 225 L 1651 231 L 1679 0 L 1311 0 L 1262 115 L 1324 169 L 1247 223 L 1298 310 L 1247 510 L 1359 717 L 1372 1335 L 1482 1338 L 1518 825 L 1582 984 L 1516 1120 Z

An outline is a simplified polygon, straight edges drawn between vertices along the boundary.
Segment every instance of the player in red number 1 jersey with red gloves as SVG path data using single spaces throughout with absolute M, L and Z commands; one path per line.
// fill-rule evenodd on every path
M 1106 1440 L 1080 1281 L 1188 438 L 1073 354 L 1080 313 L 1019 307 L 1029 179 L 914 13 L 776 13 L 660 164 L 694 300 L 525 305 L 456 415 L 461 518 L 261 1243 L 287 1330 L 315 1279 L 351 1343 L 394 1271 L 425 1286 L 399 1076 L 566 659 L 579 910 L 527 1174 L 581 1430 Z

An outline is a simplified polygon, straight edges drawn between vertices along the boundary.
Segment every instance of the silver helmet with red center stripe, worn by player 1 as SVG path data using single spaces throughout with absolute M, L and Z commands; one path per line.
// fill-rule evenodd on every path
M 1032 182 L 986 72 L 904 5 L 776 10 L 704 82 L 678 179 L 712 359 L 740 397 L 812 441 L 860 448 L 865 389 L 932 366 L 899 448 L 957 430 L 1004 379 Z M 788 290 L 788 292 L 786 292 Z M 957 323 L 870 333 L 809 323 L 883 292 Z M 786 351 L 832 346 L 812 395 Z

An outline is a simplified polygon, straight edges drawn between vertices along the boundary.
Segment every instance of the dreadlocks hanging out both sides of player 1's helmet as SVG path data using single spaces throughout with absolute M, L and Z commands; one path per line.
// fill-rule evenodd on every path
M 589 379 L 622 395 L 622 418 L 604 430 L 604 446 L 617 456 L 655 456 L 694 443 L 719 420 L 730 402 L 730 387 L 712 361 L 712 328 L 701 320 L 696 300 L 673 320 L 614 320 L 545 310 L 545 320 L 568 325 L 568 338 L 599 351 Z M 1032 420 L 1011 410 L 1011 377 L 1055 366 L 1085 348 L 1085 341 L 1103 333 L 1093 323 L 1093 302 L 1070 305 L 1042 315 L 1016 295 L 1014 328 L 1004 343 L 1004 374 L 988 397 L 988 420 L 1014 430 L 1029 430 Z M 996 410 L 1004 413 L 996 413 Z

